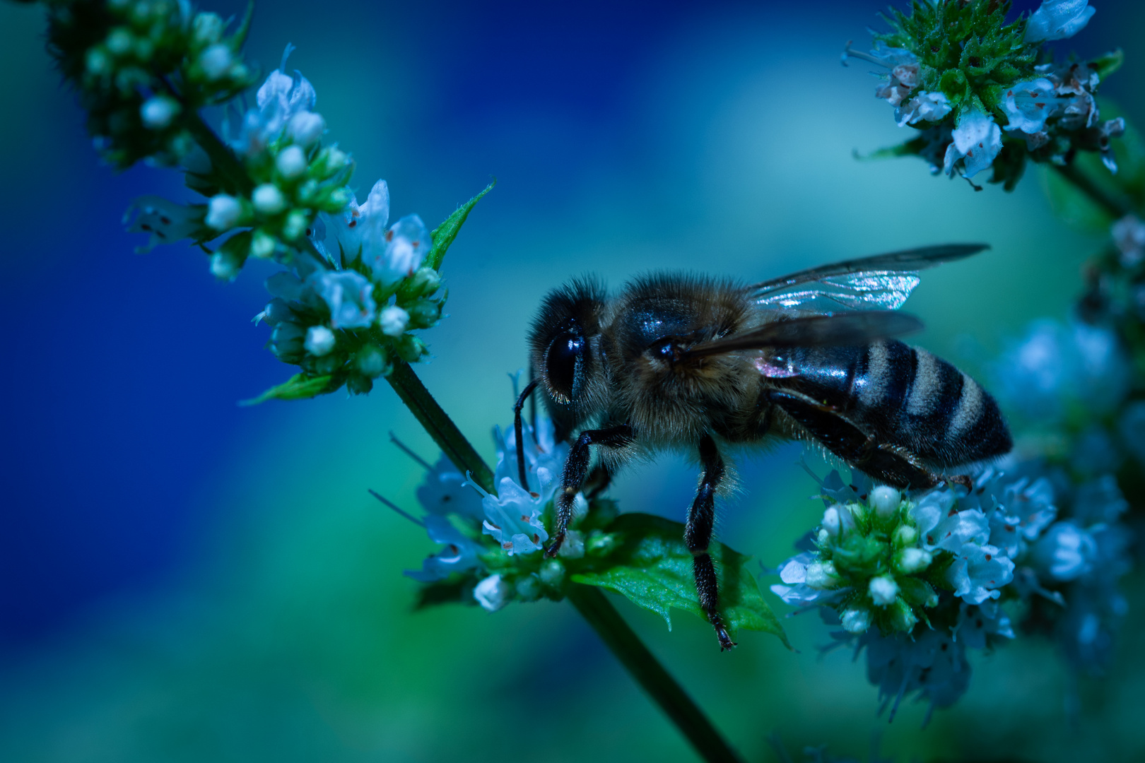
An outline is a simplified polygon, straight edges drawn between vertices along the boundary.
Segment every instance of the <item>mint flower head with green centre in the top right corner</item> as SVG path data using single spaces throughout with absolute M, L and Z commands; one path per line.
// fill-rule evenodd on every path
M 933 174 L 972 178 L 993 169 L 992 183 L 1012 190 L 1026 161 L 1069 164 L 1097 151 L 1111 172 L 1111 140 L 1122 118 L 1100 118 L 1095 95 L 1120 65 L 1120 50 L 1087 62 L 1055 62 L 1045 42 L 1073 37 L 1092 17 L 1088 0 L 1044 0 L 1008 22 L 1009 2 L 937 0 L 885 16 L 869 53 L 843 56 L 877 65 L 875 95 L 894 106 L 900 127 L 918 135 L 878 156 L 922 157 Z

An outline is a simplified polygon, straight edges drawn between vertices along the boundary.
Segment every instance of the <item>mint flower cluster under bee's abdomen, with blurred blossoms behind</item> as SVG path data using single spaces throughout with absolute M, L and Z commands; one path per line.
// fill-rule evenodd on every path
M 1014 621 L 1099 671 L 1124 614 L 1126 501 L 1108 476 L 1065 485 L 1060 471 L 1022 464 L 987 469 L 969 492 L 903 495 L 832 471 L 819 530 L 772 591 L 839 628 L 827 649 L 866 650 L 892 720 L 911 694 L 930 712 L 953 705 L 970 685 L 968 650 L 1013 639 Z

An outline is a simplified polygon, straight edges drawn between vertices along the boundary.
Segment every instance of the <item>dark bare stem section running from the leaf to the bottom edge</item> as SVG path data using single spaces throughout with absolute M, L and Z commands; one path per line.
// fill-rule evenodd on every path
M 742 763 L 743 758 L 732 749 L 708 716 L 669 675 L 660 660 L 648 651 L 635 631 L 629 627 L 608 597 L 595 586 L 570 583 L 566 591 L 572 606 L 577 609 L 593 630 L 613 651 L 621 665 L 656 700 L 696 752 L 705 761 Z

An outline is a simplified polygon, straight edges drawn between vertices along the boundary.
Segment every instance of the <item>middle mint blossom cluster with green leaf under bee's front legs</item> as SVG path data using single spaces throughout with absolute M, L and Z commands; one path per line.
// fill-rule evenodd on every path
M 556 443 L 552 422 L 523 426 L 527 486 L 519 484 L 513 428 L 495 429 L 497 468 L 492 494 L 467 480 L 448 460 L 426 470 L 418 500 L 419 522 L 443 547 L 405 574 L 423 583 L 421 605 L 479 604 L 495 612 L 510 602 L 560 601 L 569 583 L 623 594 L 662 615 L 671 627 L 678 609 L 708 622 L 693 582 L 692 554 L 677 522 L 645 514 L 618 514 L 615 501 L 577 495 L 577 516 L 554 558 L 544 557 L 554 524 L 553 494 L 568 445 Z M 403 446 L 404 447 L 404 446 Z M 416 456 L 414 456 L 416 458 Z M 385 500 L 385 499 L 382 499 Z M 386 501 L 388 503 L 388 501 Z M 404 511 L 402 512 L 404 515 Z M 751 558 L 719 545 L 721 614 L 733 633 L 761 630 L 787 643 L 783 628 L 747 566 Z

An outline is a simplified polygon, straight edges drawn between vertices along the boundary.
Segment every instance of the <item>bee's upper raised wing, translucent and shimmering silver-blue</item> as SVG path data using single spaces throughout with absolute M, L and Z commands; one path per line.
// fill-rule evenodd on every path
M 748 287 L 764 308 L 814 310 L 898 310 L 918 286 L 918 271 L 962 260 L 986 244 L 946 244 L 877 254 L 810 268 Z

